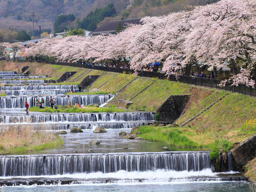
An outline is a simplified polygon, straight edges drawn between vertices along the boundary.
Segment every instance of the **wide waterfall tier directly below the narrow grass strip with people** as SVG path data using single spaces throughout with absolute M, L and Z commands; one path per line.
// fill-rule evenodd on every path
M 108 121 L 154 121 L 152 112 L 126 113 L 50 113 L 40 115 L 0 115 L 0 122 L 7 123 L 53 123 L 53 122 L 108 122 Z M 113 122 L 114 123 L 114 122 Z

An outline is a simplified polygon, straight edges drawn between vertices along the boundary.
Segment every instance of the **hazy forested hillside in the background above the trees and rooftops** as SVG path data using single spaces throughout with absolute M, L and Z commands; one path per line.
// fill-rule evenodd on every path
M 51 29 L 55 19 L 61 14 L 74 14 L 76 18 L 87 17 L 96 8 L 114 4 L 115 17 L 106 17 L 98 27 L 110 20 L 130 19 L 144 16 L 164 15 L 170 12 L 186 10 L 190 6 L 208 4 L 218 0 L 0 0 L 0 28 L 32 30 L 31 12 L 35 17 L 35 30 Z

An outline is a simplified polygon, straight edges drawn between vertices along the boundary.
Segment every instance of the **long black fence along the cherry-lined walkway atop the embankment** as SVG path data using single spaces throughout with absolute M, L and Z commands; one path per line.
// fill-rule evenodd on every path
M 34 60 L 27 60 L 27 61 L 26 60 L 17 60 L 17 61 L 18 62 L 48 63 L 48 64 L 64 65 L 64 66 L 70 66 L 70 67 L 82 67 L 82 68 L 87 68 L 87 69 L 95 69 L 95 70 L 109 71 L 109 72 L 115 72 L 115 73 L 127 73 L 127 74 L 135 73 L 135 71 L 133 69 L 123 69 L 123 68 L 117 68 L 117 67 L 104 67 L 104 66 L 98 66 L 98 65 L 80 64 L 80 63 L 63 63 L 63 62 L 56 62 L 56 61 L 34 61 Z M 141 77 L 167 79 L 169 81 L 178 81 L 181 83 L 193 84 L 196 86 L 216 88 L 216 89 L 220 89 L 220 90 L 236 92 L 239 94 L 256 97 L 256 89 L 252 88 L 251 86 L 248 87 L 245 84 L 239 84 L 238 86 L 233 86 L 231 84 L 226 84 L 225 86 L 219 86 L 219 84 L 221 83 L 221 80 L 218 80 L 218 79 L 190 77 L 190 76 L 183 76 L 183 75 L 178 76 L 178 77 L 176 77 L 176 75 L 169 75 L 169 77 L 167 77 L 167 75 L 164 73 L 151 72 L 151 71 L 137 71 L 137 75 L 139 75 Z

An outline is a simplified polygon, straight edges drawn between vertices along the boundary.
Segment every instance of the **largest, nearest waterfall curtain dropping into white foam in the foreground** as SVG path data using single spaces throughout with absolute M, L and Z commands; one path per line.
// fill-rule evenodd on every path
M 64 175 L 124 171 L 200 171 L 211 168 L 208 152 L 50 156 L 0 156 L 0 176 Z

